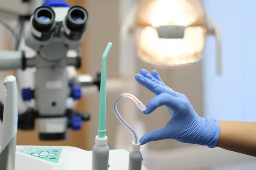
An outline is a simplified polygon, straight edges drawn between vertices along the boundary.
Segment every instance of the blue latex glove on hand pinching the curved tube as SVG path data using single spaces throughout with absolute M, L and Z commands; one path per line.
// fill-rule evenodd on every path
M 172 116 L 165 127 L 142 136 L 140 144 L 175 139 L 179 142 L 206 145 L 210 148 L 217 146 L 220 133 L 220 125 L 217 120 L 199 117 L 186 96 L 166 86 L 156 70 L 149 74 L 148 71 L 142 69 L 135 78 L 140 85 L 157 95 L 148 102 L 143 113 L 150 114 L 157 107 L 165 105 Z

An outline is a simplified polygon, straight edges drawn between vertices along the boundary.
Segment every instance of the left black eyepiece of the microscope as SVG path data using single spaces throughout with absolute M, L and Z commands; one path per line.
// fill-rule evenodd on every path
M 37 8 L 32 17 L 32 34 L 38 40 L 49 40 L 55 27 L 55 13 L 52 8 L 41 6 Z

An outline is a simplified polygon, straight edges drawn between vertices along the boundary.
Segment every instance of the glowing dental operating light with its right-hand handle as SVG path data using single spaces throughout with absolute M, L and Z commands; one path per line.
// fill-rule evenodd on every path
M 209 25 L 212 21 L 199 0 L 142 0 L 134 19 L 137 55 L 144 62 L 163 68 L 198 62 L 207 35 L 213 34 L 221 74 L 220 31 Z

